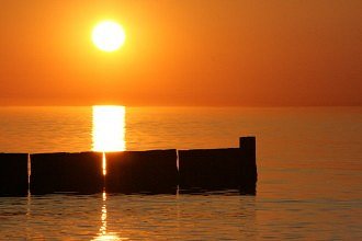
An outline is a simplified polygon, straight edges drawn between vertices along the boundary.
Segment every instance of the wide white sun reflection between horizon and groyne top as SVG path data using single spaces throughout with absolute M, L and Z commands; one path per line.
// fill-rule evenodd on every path
M 93 151 L 123 151 L 125 142 L 125 107 L 120 105 L 93 106 Z

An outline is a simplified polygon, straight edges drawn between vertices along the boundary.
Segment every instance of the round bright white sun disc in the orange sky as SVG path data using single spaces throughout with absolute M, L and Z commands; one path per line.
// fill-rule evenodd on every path
M 93 28 L 92 41 L 103 51 L 117 50 L 126 39 L 123 27 L 114 21 L 103 21 Z

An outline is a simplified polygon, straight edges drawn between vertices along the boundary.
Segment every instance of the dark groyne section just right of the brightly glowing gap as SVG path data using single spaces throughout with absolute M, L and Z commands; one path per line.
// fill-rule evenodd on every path
M 123 151 L 106 154 L 105 190 L 111 193 L 176 194 L 176 150 Z

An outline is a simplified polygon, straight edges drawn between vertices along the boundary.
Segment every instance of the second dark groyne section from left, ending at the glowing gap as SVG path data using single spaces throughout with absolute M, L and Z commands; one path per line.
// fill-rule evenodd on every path
M 101 193 L 101 152 L 31 154 L 31 193 Z

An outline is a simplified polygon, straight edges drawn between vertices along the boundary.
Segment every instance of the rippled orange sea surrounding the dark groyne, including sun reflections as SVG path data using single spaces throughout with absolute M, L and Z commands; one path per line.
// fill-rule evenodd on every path
M 362 240 L 362 107 L 0 107 L 0 152 L 229 148 L 244 136 L 257 138 L 256 195 L 0 197 L 0 240 Z

